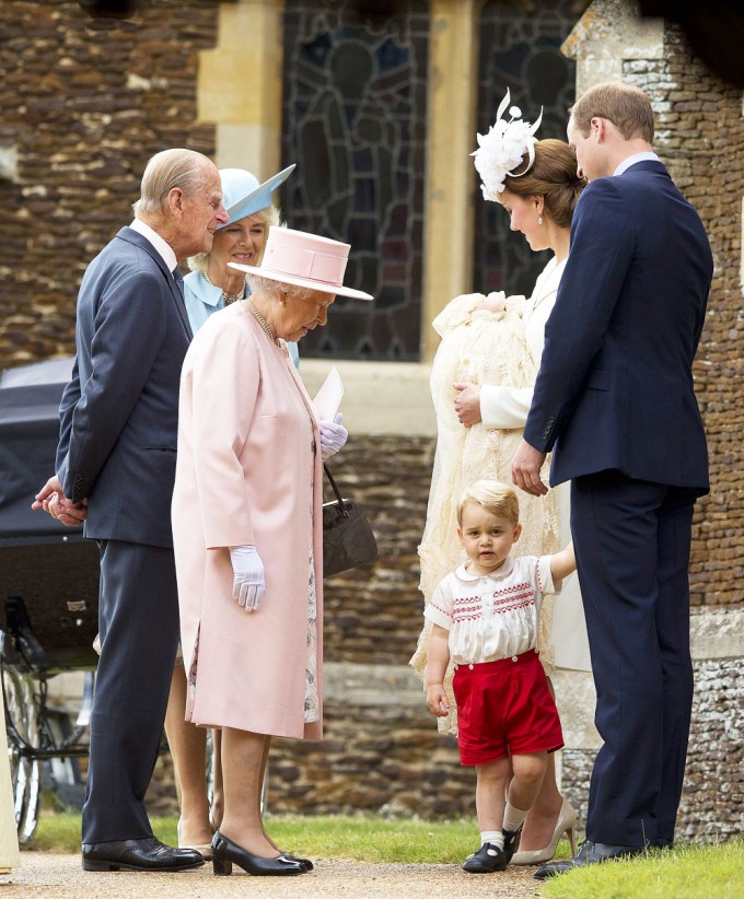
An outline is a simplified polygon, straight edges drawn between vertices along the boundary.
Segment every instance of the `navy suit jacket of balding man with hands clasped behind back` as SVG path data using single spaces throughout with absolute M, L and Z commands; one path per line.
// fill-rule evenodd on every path
M 173 546 L 178 382 L 190 339 L 162 257 L 123 227 L 83 277 L 60 404 L 57 474 L 69 499 L 88 499 L 88 537 Z

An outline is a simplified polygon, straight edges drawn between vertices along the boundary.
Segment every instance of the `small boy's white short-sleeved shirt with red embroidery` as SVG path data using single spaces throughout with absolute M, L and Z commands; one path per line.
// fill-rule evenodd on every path
M 478 576 L 468 563 L 447 574 L 423 615 L 450 632 L 455 665 L 509 658 L 534 650 L 543 596 L 560 593 L 549 556 L 509 557 L 492 574 Z

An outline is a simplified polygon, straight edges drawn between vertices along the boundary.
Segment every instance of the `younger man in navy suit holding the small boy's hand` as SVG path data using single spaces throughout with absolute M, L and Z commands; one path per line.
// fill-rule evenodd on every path
M 652 152 L 647 95 L 600 84 L 571 110 L 569 143 L 590 184 L 522 442 L 514 483 L 571 480 L 571 528 L 604 740 L 586 842 L 572 867 L 670 845 L 693 702 L 693 509 L 708 492 L 693 360 L 712 277 L 700 219 Z

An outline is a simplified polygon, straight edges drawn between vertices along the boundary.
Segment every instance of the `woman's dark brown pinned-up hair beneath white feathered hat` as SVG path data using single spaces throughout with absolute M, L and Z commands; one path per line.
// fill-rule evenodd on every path
M 523 171 L 530 159 L 525 153 Z M 503 186 L 520 197 L 543 197 L 545 210 L 559 227 L 570 227 L 579 195 L 586 182 L 577 175 L 577 157 L 568 143 L 548 138 L 535 144 L 535 162 L 518 178 L 507 175 Z

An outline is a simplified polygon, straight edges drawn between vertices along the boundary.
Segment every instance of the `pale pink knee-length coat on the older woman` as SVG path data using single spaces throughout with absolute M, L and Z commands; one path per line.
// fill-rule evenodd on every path
M 322 705 L 321 721 L 304 723 L 311 538 L 322 697 L 323 467 L 313 445 L 317 421 L 284 349 L 244 303 L 210 316 L 184 361 L 173 493 L 187 721 L 323 735 Z M 245 544 L 266 579 L 252 612 L 232 598 L 229 547 Z

